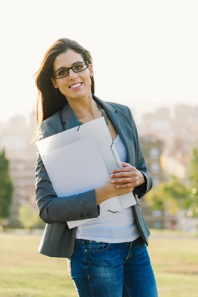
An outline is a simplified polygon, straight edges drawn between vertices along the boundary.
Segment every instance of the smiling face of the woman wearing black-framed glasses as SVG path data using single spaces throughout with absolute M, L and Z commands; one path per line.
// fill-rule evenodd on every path
M 68 49 L 55 58 L 53 71 L 59 70 L 59 68 L 69 68 L 75 63 L 83 61 L 81 54 Z M 90 77 L 93 75 L 92 64 L 89 64 L 89 67 L 81 72 L 74 72 L 73 69 L 70 69 L 67 76 L 60 79 L 51 78 L 51 81 L 54 88 L 58 88 L 67 99 L 80 99 L 86 95 L 91 95 Z

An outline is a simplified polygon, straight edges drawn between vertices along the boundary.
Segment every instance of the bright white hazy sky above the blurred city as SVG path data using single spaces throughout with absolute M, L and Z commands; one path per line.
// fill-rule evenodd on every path
M 28 116 L 49 46 L 76 40 L 94 59 L 96 96 L 136 115 L 198 104 L 197 0 L 0 0 L 0 122 Z

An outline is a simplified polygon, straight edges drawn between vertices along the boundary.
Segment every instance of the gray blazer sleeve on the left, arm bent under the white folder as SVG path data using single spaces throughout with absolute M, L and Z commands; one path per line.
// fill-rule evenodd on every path
M 49 122 L 41 124 L 39 140 L 54 134 L 56 132 Z M 39 216 L 45 223 L 96 218 L 99 215 L 95 190 L 68 197 L 57 197 L 39 151 L 37 151 L 35 186 L 36 205 Z

